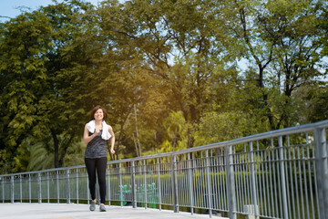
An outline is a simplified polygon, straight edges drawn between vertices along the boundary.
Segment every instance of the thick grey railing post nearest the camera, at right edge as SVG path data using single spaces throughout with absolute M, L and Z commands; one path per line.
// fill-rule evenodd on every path
M 319 197 L 319 218 L 328 217 L 328 157 L 325 129 L 314 131 L 314 153 Z

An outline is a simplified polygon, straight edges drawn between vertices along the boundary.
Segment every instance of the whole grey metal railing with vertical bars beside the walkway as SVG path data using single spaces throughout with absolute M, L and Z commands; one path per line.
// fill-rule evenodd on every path
M 108 162 L 108 204 L 238 218 L 328 218 L 328 120 Z M 3 203 L 88 203 L 84 165 L 0 175 Z

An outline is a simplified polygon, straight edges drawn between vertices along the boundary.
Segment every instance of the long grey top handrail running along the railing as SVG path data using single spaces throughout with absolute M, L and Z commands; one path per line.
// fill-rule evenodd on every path
M 214 149 L 214 148 L 222 148 L 222 147 L 241 144 L 241 143 L 249 142 L 249 141 L 259 141 L 262 139 L 275 138 L 275 137 L 282 136 L 282 135 L 290 135 L 290 134 L 295 134 L 295 133 L 299 133 L 299 132 L 311 131 L 316 128 L 318 128 L 318 129 L 328 128 L 328 120 L 323 120 L 323 121 L 314 122 L 311 124 L 304 124 L 304 125 L 299 125 L 299 126 L 295 126 L 295 127 L 285 128 L 282 130 L 271 130 L 271 131 L 267 131 L 267 132 L 262 132 L 260 134 L 254 134 L 254 135 L 242 137 L 239 139 L 234 139 L 231 141 L 221 141 L 221 142 L 217 142 L 217 143 L 206 144 L 206 145 L 197 146 L 197 147 L 193 147 L 190 149 L 184 149 L 184 150 L 180 150 L 180 151 L 170 151 L 170 152 L 150 154 L 150 155 L 135 157 L 135 158 L 121 159 L 121 160 L 117 160 L 117 161 L 108 161 L 108 164 L 120 163 L 120 162 L 136 162 L 136 161 L 142 161 L 142 160 L 148 160 L 148 159 L 154 159 L 154 158 L 160 158 L 160 157 L 168 157 L 171 155 L 183 154 L 183 153 L 194 152 L 194 151 L 204 151 L 204 150 L 210 150 L 210 149 Z M 46 169 L 46 170 L 41 170 L 41 171 L 33 171 L 33 172 L 16 172 L 16 173 L 9 173 L 9 174 L 1 174 L 0 177 L 16 176 L 16 175 L 22 175 L 22 174 L 34 174 L 34 173 L 38 173 L 38 172 L 66 171 L 68 169 L 77 169 L 77 168 L 83 168 L 83 167 L 85 167 L 84 164 L 77 165 L 77 166 Z

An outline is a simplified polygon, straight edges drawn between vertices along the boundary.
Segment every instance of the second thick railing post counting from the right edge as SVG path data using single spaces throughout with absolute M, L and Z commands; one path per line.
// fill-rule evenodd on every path
M 233 157 L 232 157 L 232 146 L 227 146 L 225 148 L 225 157 L 226 157 L 226 183 L 227 183 L 227 198 L 228 198 L 228 211 L 229 218 L 236 219 L 236 191 L 235 191 L 235 182 L 233 175 Z

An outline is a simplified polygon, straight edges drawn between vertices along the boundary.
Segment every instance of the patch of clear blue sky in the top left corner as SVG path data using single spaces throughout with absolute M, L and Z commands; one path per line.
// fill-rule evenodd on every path
M 100 0 L 85 0 L 93 5 L 97 5 Z M 57 0 L 57 2 L 63 2 L 63 0 Z M 10 18 L 19 16 L 21 11 L 19 7 L 29 7 L 32 10 L 36 10 L 39 6 L 53 5 L 52 0 L 0 0 L 0 22 L 5 22 Z

